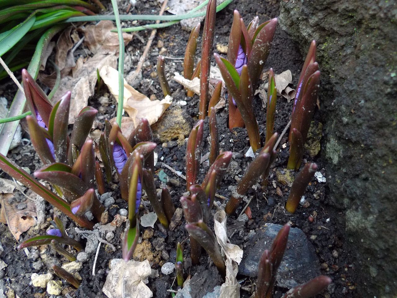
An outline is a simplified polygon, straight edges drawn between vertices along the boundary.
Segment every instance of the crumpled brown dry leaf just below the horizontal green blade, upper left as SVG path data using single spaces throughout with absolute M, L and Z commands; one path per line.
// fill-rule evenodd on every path
M 119 38 L 117 32 L 110 32 L 115 29 L 112 21 L 100 21 L 96 25 L 88 25 L 84 31 L 84 44 L 88 46 L 93 54 L 118 54 Z M 124 45 L 127 45 L 132 34 L 123 33 Z

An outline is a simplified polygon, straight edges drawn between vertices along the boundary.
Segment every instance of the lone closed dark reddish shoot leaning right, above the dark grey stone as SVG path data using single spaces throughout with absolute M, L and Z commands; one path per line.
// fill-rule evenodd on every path
M 312 181 L 316 171 L 317 164 L 306 163 L 303 170 L 301 170 L 297 178 L 295 178 L 291 187 L 291 191 L 289 192 L 287 203 L 285 204 L 285 210 L 287 210 L 289 213 L 295 213 L 299 205 L 299 201 L 301 200 L 307 185 L 310 183 L 310 181 Z

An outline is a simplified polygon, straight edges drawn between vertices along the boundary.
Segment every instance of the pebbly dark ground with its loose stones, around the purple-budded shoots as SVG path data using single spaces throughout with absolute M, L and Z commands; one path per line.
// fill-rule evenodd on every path
M 120 2 L 120 5 L 120 12 L 125 13 L 128 3 Z M 239 10 L 246 22 L 253 19 L 255 15 L 264 21 L 277 17 L 279 14 L 278 4 L 274 1 L 233 1 L 217 14 L 214 52 L 224 54 L 222 46 L 227 45 L 235 8 Z M 134 14 L 149 14 L 157 13 L 159 6 L 157 1 L 142 1 L 137 2 L 135 8 L 132 9 Z M 137 24 L 141 25 L 145 22 L 139 21 Z M 149 35 L 150 31 L 141 31 L 134 35 L 132 41 L 126 46 L 128 54 L 125 58 L 125 74 L 127 79 L 128 74 L 135 69 Z M 142 78 L 135 83 L 129 83 L 133 84 L 139 92 L 150 97 L 151 100 L 162 99 L 155 68 L 156 57 L 159 53 L 171 58 L 183 57 L 188 37 L 189 32 L 181 30 L 180 25 L 158 30 L 143 65 Z M 90 50 L 83 43 L 75 51 L 75 60 L 77 61 L 79 56 L 90 55 L 92 56 Z M 198 56 L 200 56 L 199 49 Z M 133 259 L 136 261 L 148 260 L 150 270 L 146 275 L 147 286 L 153 292 L 154 297 L 170 297 L 171 294 L 167 290 L 176 289 L 175 272 L 167 264 L 175 263 L 176 243 L 181 242 L 184 248 L 185 278 L 190 275 L 191 282 L 178 296 L 201 298 L 207 293 L 213 292 L 212 296 L 207 294 L 205 297 L 216 297 L 216 292 L 219 291 L 223 281 L 214 265 L 209 262 L 206 253 L 202 254 L 200 265 L 191 265 L 188 234 L 184 228 L 185 220 L 179 203 L 179 198 L 186 190 L 185 180 L 181 178 L 181 174 L 185 174 L 186 138 L 192 125 L 197 121 L 198 97 L 197 95 L 193 98 L 186 97 L 183 87 L 171 80 L 175 71 L 183 70 L 182 60 L 171 58 L 166 59 L 166 72 L 170 79 L 173 101 L 159 121 L 152 126 L 152 130 L 154 141 L 158 144 L 155 149 L 158 155 L 158 162 L 155 166 L 156 187 L 158 189 L 167 187 L 170 190 L 177 209 L 169 230 L 164 229 L 159 223 L 154 224 L 153 228 L 141 228 L 142 237 Z M 278 28 L 264 70 L 272 67 L 276 74 L 291 70 L 292 85 L 296 85 L 302 64 L 303 58 L 299 50 L 287 34 Z M 262 84 L 262 82 L 260 83 Z M 0 96 L 5 97 L 8 101 L 12 98 L 11 93 L 5 91 Z M 106 87 L 102 87 L 90 97 L 89 104 L 99 111 L 97 121 L 94 123 L 95 129 L 103 129 L 104 119 L 111 119 L 115 116 L 114 97 Z M 264 141 L 266 109 L 262 107 L 262 100 L 258 95 L 254 99 L 254 105 L 261 138 Z M 275 130 L 279 134 L 289 121 L 291 109 L 292 101 L 288 103 L 283 97 L 278 97 Z M 249 148 L 245 129 L 235 129 L 230 132 L 227 128 L 227 118 L 227 107 L 224 107 L 217 114 L 220 148 L 222 151 L 233 152 L 233 159 L 222 186 L 218 190 L 218 194 L 226 198 L 230 196 L 229 186 L 236 185 L 237 180 L 252 160 L 251 157 L 245 157 Z M 306 161 L 316 162 L 319 172 L 308 186 L 297 212 L 291 215 L 284 209 L 291 183 L 296 176 L 296 173 L 285 169 L 289 156 L 289 144 L 287 135 L 284 135 L 278 147 L 276 161 L 270 170 L 267 188 L 262 188 L 257 184 L 255 189 L 249 191 L 245 202 L 237 209 L 236 216 L 227 219 L 227 235 L 231 243 L 237 244 L 244 251 L 243 261 L 239 265 L 239 275 L 237 275 L 241 284 L 241 297 L 251 296 L 256 282 L 257 261 L 260 252 L 270 247 L 271 239 L 280 226 L 285 223 L 290 223 L 293 228 L 290 233 L 289 246 L 279 270 L 275 297 L 281 297 L 281 294 L 290 286 L 303 283 L 319 274 L 330 276 L 333 283 L 318 297 L 341 298 L 355 295 L 355 268 L 351 261 L 351 255 L 345 250 L 343 212 L 330 204 L 327 195 L 329 188 L 328 173 L 325 169 L 326 161 L 318 157 L 319 151 L 324 149 L 321 109 L 316 112 L 313 120 L 308 142 L 310 145 L 307 148 L 310 155 L 304 156 L 304 163 Z M 208 134 L 208 124 L 205 124 L 204 132 Z M 26 140 L 12 149 L 8 157 L 33 172 L 42 165 L 27 134 L 23 133 L 22 136 Z M 208 153 L 208 149 L 208 142 L 205 142 L 204 156 Z M 204 159 L 199 181 L 202 180 L 207 170 L 208 163 Z M 9 178 L 4 173 L 1 177 Z M 73 254 L 77 255 L 75 262 L 69 262 L 60 257 L 49 246 L 18 251 L 16 249 L 17 242 L 8 226 L 0 224 L 2 235 L 0 239 L 2 260 L 0 261 L 0 297 L 4 295 L 8 298 L 16 296 L 35 298 L 106 297 L 102 289 L 106 277 L 111 272 L 112 264 L 113 266 L 118 264 L 114 259 L 121 258 L 121 237 L 127 215 L 127 203 L 120 197 L 117 180 L 107 185 L 108 192 L 100 196 L 100 201 L 107 209 L 107 217 L 102 223 L 97 224 L 93 231 L 80 230 L 75 223 L 42 201 L 40 197 L 21 186 L 18 187 L 29 197 L 28 200 L 34 200 L 37 213 L 37 224 L 23 233 L 19 241 L 37 234 L 44 234 L 48 228 L 53 227 L 52 217 L 56 214 L 62 219 L 69 236 L 79 240 L 85 249 L 78 254 L 71 250 Z M 27 208 L 27 199 L 20 192 L 19 195 L 10 197 L 8 201 L 17 209 L 18 206 L 21 210 Z M 249 208 L 242 212 L 248 201 L 250 202 Z M 213 211 L 223 209 L 224 205 L 225 200 L 219 199 L 216 201 Z M 4 201 L 2 201 L 3 206 Z M 151 206 L 144 197 L 140 215 L 143 216 L 149 211 L 152 211 Z M 212 218 L 210 223 L 213 223 Z M 212 227 L 212 224 L 210 226 Z M 62 265 L 69 272 L 74 273 L 78 279 L 81 279 L 80 288 L 75 290 L 70 284 L 52 274 L 50 269 L 52 264 Z

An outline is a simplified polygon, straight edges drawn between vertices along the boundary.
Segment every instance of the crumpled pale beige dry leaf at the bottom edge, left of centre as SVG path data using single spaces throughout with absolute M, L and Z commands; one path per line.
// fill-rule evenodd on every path
M 152 291 L 146 286 L 150 273 L 148 260 L 125 262 L 123 259 L 112 259 L 102 292 L 108 298 L 153 297 Z

